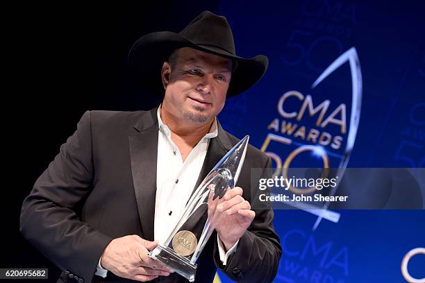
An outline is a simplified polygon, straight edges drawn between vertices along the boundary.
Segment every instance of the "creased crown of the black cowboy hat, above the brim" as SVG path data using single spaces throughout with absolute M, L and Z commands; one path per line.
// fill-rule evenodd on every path
M 194 44 L 214 46 L 233 55 L 236 53 L 227 19 L 210 11 L 201 12 L 179 34 Z

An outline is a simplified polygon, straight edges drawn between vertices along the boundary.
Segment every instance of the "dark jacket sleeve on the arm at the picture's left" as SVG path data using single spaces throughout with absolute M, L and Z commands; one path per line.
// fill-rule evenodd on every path
M 22 204 L 22 235 L 64 271 L 67 282 L 92 282 L 112 240 L 78 217 L 78 207 L 92 191 L 91 127 L 87 111 Z

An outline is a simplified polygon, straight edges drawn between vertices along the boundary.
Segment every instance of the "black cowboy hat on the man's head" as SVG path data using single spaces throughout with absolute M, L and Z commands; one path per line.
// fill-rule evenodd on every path
M 252 87 L 265 74 L 269 60 L 265 55 L 242 58 L 235 53 L 233 34 L 227 19 L 209 11 L 201 12 L 180 33 L 160 31 L 139 38 L 128 54 L 128 65 L 145 87 L 164 93 L 160 71 L 169 55 L 181 47 L 231 58 L 237 63 L 228 87 L 227 97 Z

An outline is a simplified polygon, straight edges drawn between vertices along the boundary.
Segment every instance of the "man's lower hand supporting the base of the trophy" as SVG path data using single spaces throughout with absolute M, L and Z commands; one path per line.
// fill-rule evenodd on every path
M 142 282 L 158 275 L 168 276 L 174 271 L 147 255 L 156 246 L 157 241 L 147 241 L 138 235 L 113 239 L 103 251 L 101 266 L 119 277 Z

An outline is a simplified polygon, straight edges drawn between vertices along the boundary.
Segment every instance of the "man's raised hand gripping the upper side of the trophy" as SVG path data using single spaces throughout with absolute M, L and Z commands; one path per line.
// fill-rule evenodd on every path
M 235 187 L 226 192 L 217 203 L 215 230 L 224 248 L 229 250 L 242 237 L 256 213 L 247 200 L 242 198 L 242 188 Z

